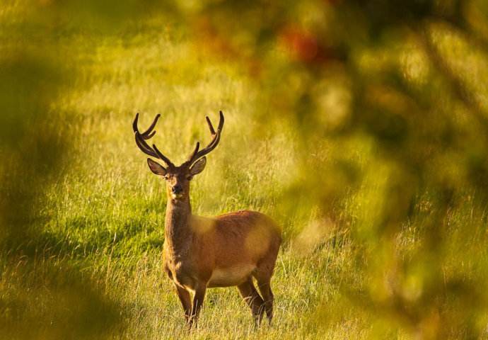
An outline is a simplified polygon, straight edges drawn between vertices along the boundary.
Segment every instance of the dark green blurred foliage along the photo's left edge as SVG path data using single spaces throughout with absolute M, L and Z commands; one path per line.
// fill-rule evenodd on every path
M 119 321 L 115 302 L 62 254 L 53 257 L 35 223 L 38 198 L 69 159 L 69 115 L 51 106 L 76 65 L 54 13 L 41 13 L 49 4 L 30 5 L 0 8 L 0 337 L 103 337 Z

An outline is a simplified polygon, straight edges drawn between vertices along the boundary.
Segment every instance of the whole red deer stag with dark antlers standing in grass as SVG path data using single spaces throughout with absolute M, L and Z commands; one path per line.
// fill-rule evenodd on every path
M 146 132 L 139 132 L 137 120 L 133 129 L 136 144 L 145 154 L 161 159 L 164 166 L 147 159 L 149 169 L 166 181 L 165 241 L 163 247 L 165 272 L 175 285 L 185 319 L 190 327 L 197 323 L 205 291 L 213 287 L 236 285 L 249 305 L 255 324 L 260 324 L 266 312 L 269 322 L 273 317 L 271 277 L 281 244 L 280 229 L 275 222 L 260 212 L 242 210 L 216 217 L 192 215 L 190 181 L 203 171 L 206 154 L 219 144 L 223 114 L 214 130 L 209 118 L 211 142 L 199 149 L 199 142 L 186 162 L 175 166 L 149 140 L 160 115 L 156 115 Z M 252 283 L 257 281 L 260 293 Z M 193 295 L 193 300 L 190 298 Z

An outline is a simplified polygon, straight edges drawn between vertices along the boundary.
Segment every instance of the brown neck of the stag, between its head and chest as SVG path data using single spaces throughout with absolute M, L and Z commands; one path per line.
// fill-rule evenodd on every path
M 190 218 L 192 217 L 192 207 L 190 198 L 187 196 L 183 200 L 173 200 L 168 197 L 165 218 L 165 242 L 168 251 L 175 257 L 185 254 L 192 242 L 192 230 L 190 228 Z

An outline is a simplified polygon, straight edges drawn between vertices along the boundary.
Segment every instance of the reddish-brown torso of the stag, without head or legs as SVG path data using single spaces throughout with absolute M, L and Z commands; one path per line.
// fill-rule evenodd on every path
M 190 215 L 185 225 L 172 225 L 171 217 L 166 221 L 166 271 L 175 284 L 190 290 L 199 283 L 208 288 L 240 285 L 265 264 L 267 254 L 276 255 L 279 249 L 278 227 L 259 212 L 244 210 L 215 218 Z M 185 236 L 172 228 L 185 229 Z M 252 238 L 259 238 L 259 243 Z

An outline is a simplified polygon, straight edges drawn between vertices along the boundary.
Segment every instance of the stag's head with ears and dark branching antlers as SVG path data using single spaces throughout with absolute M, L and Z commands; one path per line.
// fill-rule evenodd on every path
M 211 124 L 210 118 L 208 116 L 206 117 L 211 133 L 211 141 L 209 142 L 209 145 L 200 150 L 200 143 L 197 142 L 197 145 L 190 154 L 190 157 L 188 157 L 187 161 L 182 163 L 180 166 L 175 166 L 175 164 L 173 164 L 168 157 L 165 157 L 165 155 L 159 151 L 156 145 L 153 144 L 153 146 L 150 147 L 146 142 L 156 134 L 156 131 L 153 131 L 153 129 L 156 126 L 160 116 L 161 115 L 159 114 L 156 115 L 156 118 L 154 118 L 153 123 L 151 126 L 149 126 L 149 129 L 147 129 L 145 132 L 139 132 L 139 128 L 137 127 L 139 113 L 136 114 L 136 118 L 132 124 L 132 129 L 134 130 L 134 135 L 136 138 L 136 145 L 139 147 L 139 149 L 141 149 L 142 152 L 144 152 L 144 154 L 161 159 L 164 162 L 165 165 L 163 166 L 150 158 L 147 159 L 147 164 L 149 165 L 149 169 L 153 171 L 153 174 L 163 176 L 163 178 L 166 180 L 168 198 L 173 200 L 185 200 L 190 195 L 190 181 L 192 180 L 193 176 L 201 173 L 205 168 L 205 164 L 207 163 L 207 158 L 205 155 L 215 149 L 219 144 L 223 128 L 223 113 L 220 111 L 220 120 L 217 130 L 214 130 L 214 126 Z

